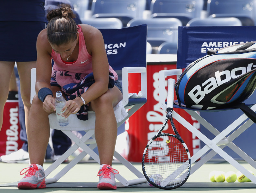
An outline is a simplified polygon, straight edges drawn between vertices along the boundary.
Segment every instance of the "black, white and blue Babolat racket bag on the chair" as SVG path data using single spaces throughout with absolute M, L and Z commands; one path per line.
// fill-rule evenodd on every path
M 187 66 L 175 84 L 179 106 L 209 110 L 240 108 L 256 123 L 244 103 L 256 87 L 256 41 L 209 50 Z

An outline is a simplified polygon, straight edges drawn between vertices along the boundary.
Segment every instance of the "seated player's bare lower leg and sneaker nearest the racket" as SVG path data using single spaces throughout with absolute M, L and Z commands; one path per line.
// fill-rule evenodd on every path
M 115 173 L 112 169 L 112 161 L 117 140 L 117 120 L 113 107 L 122 100 L 122 93 L 118 87 L 108 91 L 91 102 L 89 109 L 95 111 L 95 138 L 97 142 L 100 170 L 98 172 L 99 189 L 116 189 Z

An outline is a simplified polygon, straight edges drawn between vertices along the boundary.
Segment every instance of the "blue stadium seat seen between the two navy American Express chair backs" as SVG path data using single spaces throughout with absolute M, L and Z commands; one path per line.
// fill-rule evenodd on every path
M 127 27 L 136 25 L 148 25 L 148 42 L 152 47 L 158 47 L 165 41 L 175 42 L 178 40 L 178 26 L 182 25 L 177 18 L 150 18 L 132 19 Z

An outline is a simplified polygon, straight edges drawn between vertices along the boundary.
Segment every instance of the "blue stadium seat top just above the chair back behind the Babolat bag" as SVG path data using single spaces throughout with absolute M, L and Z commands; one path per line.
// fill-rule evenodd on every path
M 236 17 L 216 17 L 216 18 L 194 18 L 187 26 L 242 26 L 241 21 Z

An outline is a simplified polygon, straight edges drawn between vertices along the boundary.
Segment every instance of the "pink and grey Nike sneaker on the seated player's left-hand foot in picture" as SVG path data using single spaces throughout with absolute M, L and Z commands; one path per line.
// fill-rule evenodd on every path
M 27 169 L 27 170 L 26 170 Z M 26 170 L 24 173 L 21 173 Z M 26 174 L 23 179 L 18 182 L 19 189 L 35 189 L 45 188 L 45 170 L 42 166 L 31 164 L 28 168 L 21 170 L 20 175 Z

